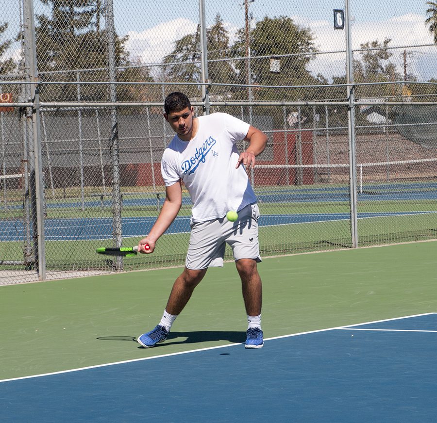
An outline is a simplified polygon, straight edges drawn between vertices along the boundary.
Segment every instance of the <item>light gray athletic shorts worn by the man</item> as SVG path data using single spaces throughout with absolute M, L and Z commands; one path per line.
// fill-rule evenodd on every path
M 234 253 L 234 259 L 261 261 L 258 244 L 257 204 L 249 204 L 238 212 L 238 219 L 229 222 L 226 217 L 191 223 L 190 244 L 186 255 L 187 269 L 222 267 L 226 243 Z

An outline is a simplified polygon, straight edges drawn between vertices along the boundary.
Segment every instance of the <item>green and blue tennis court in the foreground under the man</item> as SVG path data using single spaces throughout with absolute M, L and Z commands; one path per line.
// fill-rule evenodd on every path
M 261 350 L 233 263 L 152 349 L 178 268 L 2 286 L 1 420 L 433 421 L 436 269 L 436 241 L 265 258 Z

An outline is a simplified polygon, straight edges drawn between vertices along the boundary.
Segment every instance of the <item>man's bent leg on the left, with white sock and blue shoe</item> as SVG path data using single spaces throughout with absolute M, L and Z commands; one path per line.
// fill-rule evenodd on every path
M 158 342 L 164 342 L 167 339 L 171 325 L 178 314 L 184 309 L 194 288 L 201 282 L 206 271 L 207 268 L 190 270 L 185 267 L 185 270 L 177 277 L 173 284 L 161 321 L 150 332 L 140 335 L 137 339 L 138 343 L 143 347 L 151 348 Z

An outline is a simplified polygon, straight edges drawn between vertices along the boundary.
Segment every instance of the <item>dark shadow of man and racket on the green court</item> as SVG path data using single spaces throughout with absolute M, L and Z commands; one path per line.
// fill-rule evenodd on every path
M 179 340 L 182 338 L 182 340 Z M 134 336 L 101 336 L 97 339 L 102 341 L 131 341 L 136 342 Z M 246 332 L 228 332 L 220 330 L 201 330 L 196 332 L 170 332 L 167 341 L 158 343 L 156 346 L 178 345 L 188 343 L 201 343 L 209 341 L 229 341 L 239 343 L 246 341 Z M 138 347 L 143 348 L 143 347 Z

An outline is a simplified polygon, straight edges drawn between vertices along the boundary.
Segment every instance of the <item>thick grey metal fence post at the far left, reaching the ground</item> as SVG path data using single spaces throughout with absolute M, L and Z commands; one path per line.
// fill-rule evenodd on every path
M 29 193 L 31 196 L 31 219 L 34 226 L 34 253 L 36 253 L 35 265 L 38 267 L 39 280 L 46 279 L 46 254 L 44 239 L 44 182 L 41 152 L 41 128 L 39 110 L 39 87 L 37 85 L 38 68 L 36 63 L 36 39 L 34 22 L 33 0 L 25 0 L 24 7 L 24 33 L 26 39 L 26 59 L 28 60 L 28 80 L 30 84 L 30 95 L 32 106 L 32 137 L 30 138 L 34 163 L 29 168 L 30 184 Z

